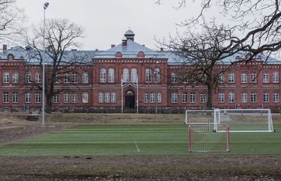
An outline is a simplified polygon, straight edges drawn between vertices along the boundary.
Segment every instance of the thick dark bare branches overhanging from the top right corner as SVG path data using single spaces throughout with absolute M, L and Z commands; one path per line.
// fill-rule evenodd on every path
M 156 3 L 160 3 L 161 0 Z M 221 31 L 228 32 L 228 41 L 223 51 L 251 52 L 251 58 L 259 53 L 279 53 L 281 48 L 280 1 L 278 0 L 201 0 L 195 17 L 187 17 L 180 25 L 198 31 L 202 24 L 211 22 L 210 14 L 219 12 L 216 22 Z M 184 8 L 186 0 L 178 0 L 178 8 Z M 192 6 L 189 4 L 188 6 Z M 213 17 L 211 17 L 213 19 Z M 209 27 L 211 28 L 211 27 Z M 250 59 L 249 59 L 250 60 Z

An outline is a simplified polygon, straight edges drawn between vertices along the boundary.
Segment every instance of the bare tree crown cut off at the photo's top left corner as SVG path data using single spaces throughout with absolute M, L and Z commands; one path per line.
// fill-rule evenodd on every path
M 15 39 L 15 35 L 22 33 L 25 20 L 24 11 L 16 6 L 15 0 L 0 0 L 1 40 Z

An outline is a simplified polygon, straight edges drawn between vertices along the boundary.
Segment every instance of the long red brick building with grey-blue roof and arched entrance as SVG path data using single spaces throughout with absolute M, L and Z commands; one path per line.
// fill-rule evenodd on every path
M 53 109 L 107 108 L 206 109 L 206 87 L 183 83 L 177 72 L 181 65 L 170 52 L 153 51 L 134 41 L 128 30 L 122 42 L 107 51 L 70 51 L 88 53 L 91 62 L 81 65 L 56 81 L 55 88 L 67 87 L 53 95 Z M 0 108 L 33 110 L 41 108 L 41 66 L 27 61 L 29 47 L 3 47 L 0 53 Z M 264 65 L 263 55 L 251 64 L 232 57 L 237 63 L 223 75 L 213 96 L 216 108 L 270 108 L 280 110 L 280 65 L 274 58 Z M 239 60 L 239 61 L 238 61 Z M 228 65 L 216 65 L 216 69 Z M 46 70 L 48 70 L 46 65 Z M 65 68 L 67 69 L 67 67 Z M 64 77 L 70 77 L 67 81 Z

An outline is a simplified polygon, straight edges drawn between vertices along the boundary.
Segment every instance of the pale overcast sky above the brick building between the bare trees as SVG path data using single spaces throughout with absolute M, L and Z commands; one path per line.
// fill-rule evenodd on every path
M 154 40 L 175 34 L 176 23 L 190 18 L 195 12 L 189 8 L 176 10 L 178 1 L 162 0 L 17 0 L 25 9 L 29 23 L 40 23 L 44 17 L 44 3 L 48 1 L 46 18 L 67 18 L 85 28 L 84 48 L 80 50 L 105 51 L 111 44 L 122 43 L 130 28 L 135 41 L 157 49 Z M 198 13 L 198 12 L 197 12 Z

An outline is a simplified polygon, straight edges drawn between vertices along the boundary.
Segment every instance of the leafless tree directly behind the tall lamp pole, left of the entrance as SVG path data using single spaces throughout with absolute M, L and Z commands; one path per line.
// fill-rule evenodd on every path
M 43 26 L 34 27 L 34 36 L 26 36 L 29 51 L 29 64 L 43 67 Z M 55 83 L 65 80 L 75 85 L 77 79 L 72 79 L 70 72 L 82 69 L 83 65 L 91 64 L 91 55 L 86 51 L 71 51 L 81 47 L 79 39 L 84 38 L 84 28 L 66 19 L 51 19 L 46 21 L 46 54 L 45 54 L 45 95 L 46 112 L 51 113 L 53 95 L 69 90 L 70 86 L 59 86 Z M 27 70 L 28 71 L 28 70 Z M 30 82 L 29 82 L 30 83 Z M 30 84 L 29 84 L 30 85 Z M 40 83 L 33 82 L 30 88 L 42 90 Z

